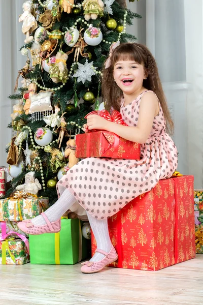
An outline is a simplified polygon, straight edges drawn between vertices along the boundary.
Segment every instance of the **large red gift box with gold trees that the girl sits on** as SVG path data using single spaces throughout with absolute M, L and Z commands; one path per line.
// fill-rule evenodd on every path
M 195 257 L 193 176 L 160 180 L 109 221 L 118 260 L 109 266 L 159 270 Z M 92 255 L 96 241 L 92 234 Z

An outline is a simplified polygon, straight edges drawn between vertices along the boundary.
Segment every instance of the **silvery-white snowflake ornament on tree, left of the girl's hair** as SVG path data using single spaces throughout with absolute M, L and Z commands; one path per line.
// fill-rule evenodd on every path
M 78 77 L 77 81 L 82 81 L 84 84 L 86 81 L 91 81 L 92 75 L 95 75 L 96 73 L 92 69 L 93 62 L 88 63 L 86 60 L 86 63 L 80 64 L 78 63 L 78 70 L 76 73 L 73 75 L 74 77 Z M 94 68 L 96 69 L 96 68 Z

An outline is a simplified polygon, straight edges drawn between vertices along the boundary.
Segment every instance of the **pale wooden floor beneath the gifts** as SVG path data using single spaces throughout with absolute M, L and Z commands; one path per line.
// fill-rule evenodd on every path
M 203 254 L 159 271 L 76 265 L 0 265 L 0 304 L 201 305 Z

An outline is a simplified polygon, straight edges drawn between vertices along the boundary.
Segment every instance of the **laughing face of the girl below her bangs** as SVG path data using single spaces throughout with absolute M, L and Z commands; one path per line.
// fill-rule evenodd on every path
M 131 60 L 119 60 L 114 66 L 113 75 L 122 92 L 130 95 L 143 87 L 143 79 L 147 73 L 143 64 Z

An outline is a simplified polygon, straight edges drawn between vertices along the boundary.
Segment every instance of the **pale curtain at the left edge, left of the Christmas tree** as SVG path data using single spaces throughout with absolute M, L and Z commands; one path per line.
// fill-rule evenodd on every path
M 8 99 L 14 94 L 18 70 L 25 65 L 25 57 L 18 51 L 24 43 L 24 35 L 18 22 L 22 14 L 23 0 L 0 1 L 0 166 L 7 166 L 6 145 L 11 141 L 12 102 Z

